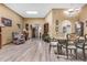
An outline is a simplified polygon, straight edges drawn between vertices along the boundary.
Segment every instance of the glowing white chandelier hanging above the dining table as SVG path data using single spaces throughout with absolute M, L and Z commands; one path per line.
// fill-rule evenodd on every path
M 64 13 L 70 18 L 70 17 L 76 17 L 80 12 L 80 8 L 77 9 L 67 9 L 64 11 Z

